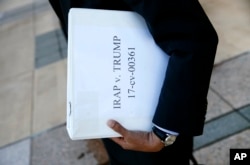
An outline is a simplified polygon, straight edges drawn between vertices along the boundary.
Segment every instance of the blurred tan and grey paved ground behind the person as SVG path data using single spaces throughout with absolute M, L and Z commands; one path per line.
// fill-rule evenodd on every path
M 219 35 L 200 164 L 250 149 L 250 1 L 199 0 Z M 107 165 L 100 140 L 65 129 L 67 44 L 47 0 L 0 0 L 0 165 Z

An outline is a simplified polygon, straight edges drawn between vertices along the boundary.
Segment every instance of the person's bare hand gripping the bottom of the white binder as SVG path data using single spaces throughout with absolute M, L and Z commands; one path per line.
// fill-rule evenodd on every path
M 114 120 L 109 120 L 107 124 L 110 128 L 122 136 L 111 139 L 119 144 L 123 149 L 143 152 L 158 152 L 164 147 L 161 140 L 152 131 L 130 131 Z

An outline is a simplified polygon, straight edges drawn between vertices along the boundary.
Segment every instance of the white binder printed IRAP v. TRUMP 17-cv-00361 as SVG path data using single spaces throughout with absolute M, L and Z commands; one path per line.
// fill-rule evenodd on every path
M 109 119 L 149 131 L 169 56 L 131 11 L 72 8 L 67 131 L 72 140 L 119 137 Z

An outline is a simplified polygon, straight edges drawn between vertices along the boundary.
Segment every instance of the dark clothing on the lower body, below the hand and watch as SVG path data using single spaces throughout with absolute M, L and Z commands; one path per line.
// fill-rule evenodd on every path
M 193 138 L 179 136 L 175 143 L 160 152 L 124 150 L 110 139 L 103 139 L 110 165 L 189 165 L 193 152 Z

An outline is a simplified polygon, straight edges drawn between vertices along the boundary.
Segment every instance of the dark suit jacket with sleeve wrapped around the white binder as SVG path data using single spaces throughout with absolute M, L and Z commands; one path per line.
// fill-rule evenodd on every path
M 201 135 L 218 37 L 198 0 L 49 0 L 67 35 L 71 7 L 133 10 L 170 55 L 153 123 Z

